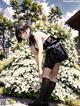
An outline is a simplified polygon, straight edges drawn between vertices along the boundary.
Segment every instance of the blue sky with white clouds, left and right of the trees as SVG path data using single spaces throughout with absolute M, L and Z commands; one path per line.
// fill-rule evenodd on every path
M 22 2 L 23 0 L 19 0 Z M 80 0 L 35 0 L 43 4 L 43 12 L 48 14 L 49 8 L 54 6 L 59 6 L 63 18 L 62 20 L 67 21 L 72 15 L 80 10 Z M 14 11 L 10 6 L 10 0 L 0 0 L 0 11 L 4 13 L 8 19 L 12 19 Z

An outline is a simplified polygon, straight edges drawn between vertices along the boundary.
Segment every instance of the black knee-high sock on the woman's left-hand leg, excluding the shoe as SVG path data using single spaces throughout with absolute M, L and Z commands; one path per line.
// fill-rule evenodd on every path
M 50 87 L 50 80 L 48 78 L 42 79 L 42 84 L 40 88 L 40 94 L 39 94 L 39 100 L 45 102 L 46 100 L 46 94 Z

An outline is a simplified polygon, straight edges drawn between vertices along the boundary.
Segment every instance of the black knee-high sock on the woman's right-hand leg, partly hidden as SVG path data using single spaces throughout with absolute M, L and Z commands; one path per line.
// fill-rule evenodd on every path
M 46 94 L 46 101 L 49 101 L 51 93 L 55 89 L 56 82 L 50 81 L 50 87 L 48 88 L 47 94 Z

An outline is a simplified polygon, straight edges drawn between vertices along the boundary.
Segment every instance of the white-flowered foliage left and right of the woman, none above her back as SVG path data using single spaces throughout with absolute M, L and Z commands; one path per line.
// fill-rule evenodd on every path
M 0 81 L 5 84 L 7 89 L 6 94 L 17 97 L 36 97 L 40 88 L 40 80 L 31 49 L 26 45 L 26 42 L 22 42 L 13 54 L 15 61 L 0 74 Z M 69 60 L 64 63 L 67 61 Z M 52 94 L 55 99 L 78 98 L 80 95 L 80 72 L 68 64 L 60 66 L 58 83 Z

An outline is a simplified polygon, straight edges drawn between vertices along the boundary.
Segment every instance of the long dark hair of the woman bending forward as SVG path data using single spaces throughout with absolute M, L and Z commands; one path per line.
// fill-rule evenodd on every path
M 30 29 L 29 45 L 31 46 L 31 45 L 34 45 L 36 43 L 36 41 L 34 39 L 34 35 L 32 34 L 32 29 L 31 29 L 31 27 L 28 24 L 25 24 L 23 26 L 22 25 L 18 25 L 16 27 L 16 31 L 15 31 L 16 34 L 15 35 L 16 35 L 18 43 L 22 42 L 23 39 L 21 38 L 21 34 L 23 32 L 25 32 L 25 30 L 28 29 L 28 28 Z

